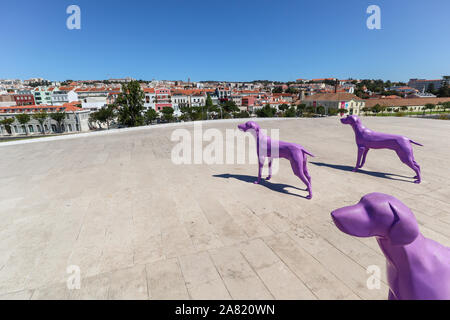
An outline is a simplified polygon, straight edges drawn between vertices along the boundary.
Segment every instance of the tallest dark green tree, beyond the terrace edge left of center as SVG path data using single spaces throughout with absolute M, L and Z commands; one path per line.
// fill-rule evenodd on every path
M 117 97 L 119 106 L 119 122 L 128 127 L 144 124 L 144 98 L 145 94 L 138 81 L 131 81 L 122 85 L 122 92 Z

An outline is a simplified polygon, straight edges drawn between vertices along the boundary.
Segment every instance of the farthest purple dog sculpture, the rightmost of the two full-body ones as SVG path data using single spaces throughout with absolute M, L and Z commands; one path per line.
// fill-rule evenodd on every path
M 400 160 L 416 173 L 414 183 L 420 183 L 420 166 L 414 160 L 413 148 L 411 146 L 411 143 L 422 146 L 420 143 L 403 136 L 380 133 L 367 129 L 363 126 L 359 117 L 355 115 L 342 118 L 341 122 L 351 125 L 353 131 L 355 131 L 358 158 L 353 171 L 357 171 L 363 167 L 369 149 L 392 149 L 397 153 Z

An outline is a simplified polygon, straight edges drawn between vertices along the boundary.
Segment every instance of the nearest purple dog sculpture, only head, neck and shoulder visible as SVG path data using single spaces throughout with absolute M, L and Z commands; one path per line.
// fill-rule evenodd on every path
M 344 233 L 377 238 L 387 260 L 390 300 L 450 299 L 450 248 L 425 238 L 401 201 L 370 193 L 331 216 Z

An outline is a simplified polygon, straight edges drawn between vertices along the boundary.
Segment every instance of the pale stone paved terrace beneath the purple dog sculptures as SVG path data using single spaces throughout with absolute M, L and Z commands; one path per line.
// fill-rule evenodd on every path
M 316 155 L 312 200 L 287 160 L 262 185 L 256 165 L 174 165 L 170 135 L 192 124 L 0 143 L 0 298 L 385 299 L 375 239 L 341 233 L 330 212 L 388 193 L 450 246 L 450 122 L 363 122 L 424 144 L 414 146 L 422 184 L 389 150 L 350 172 L 354 135 L 338 118 L 260 123 Z M 79 290 L 67 289 L 69 265 Z M 369 265 L 382 269 L 380 290 L 366 287 Z

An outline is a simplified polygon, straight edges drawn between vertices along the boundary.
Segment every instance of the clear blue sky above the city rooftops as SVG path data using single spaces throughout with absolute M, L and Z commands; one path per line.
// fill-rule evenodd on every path
M 66 8 L 81 8 L 81 30 Z M 381 7 L 381 30 L 366 9 Z M 0 78 L 249 81 L 450 74 L 448 0 L 2 1 Z

